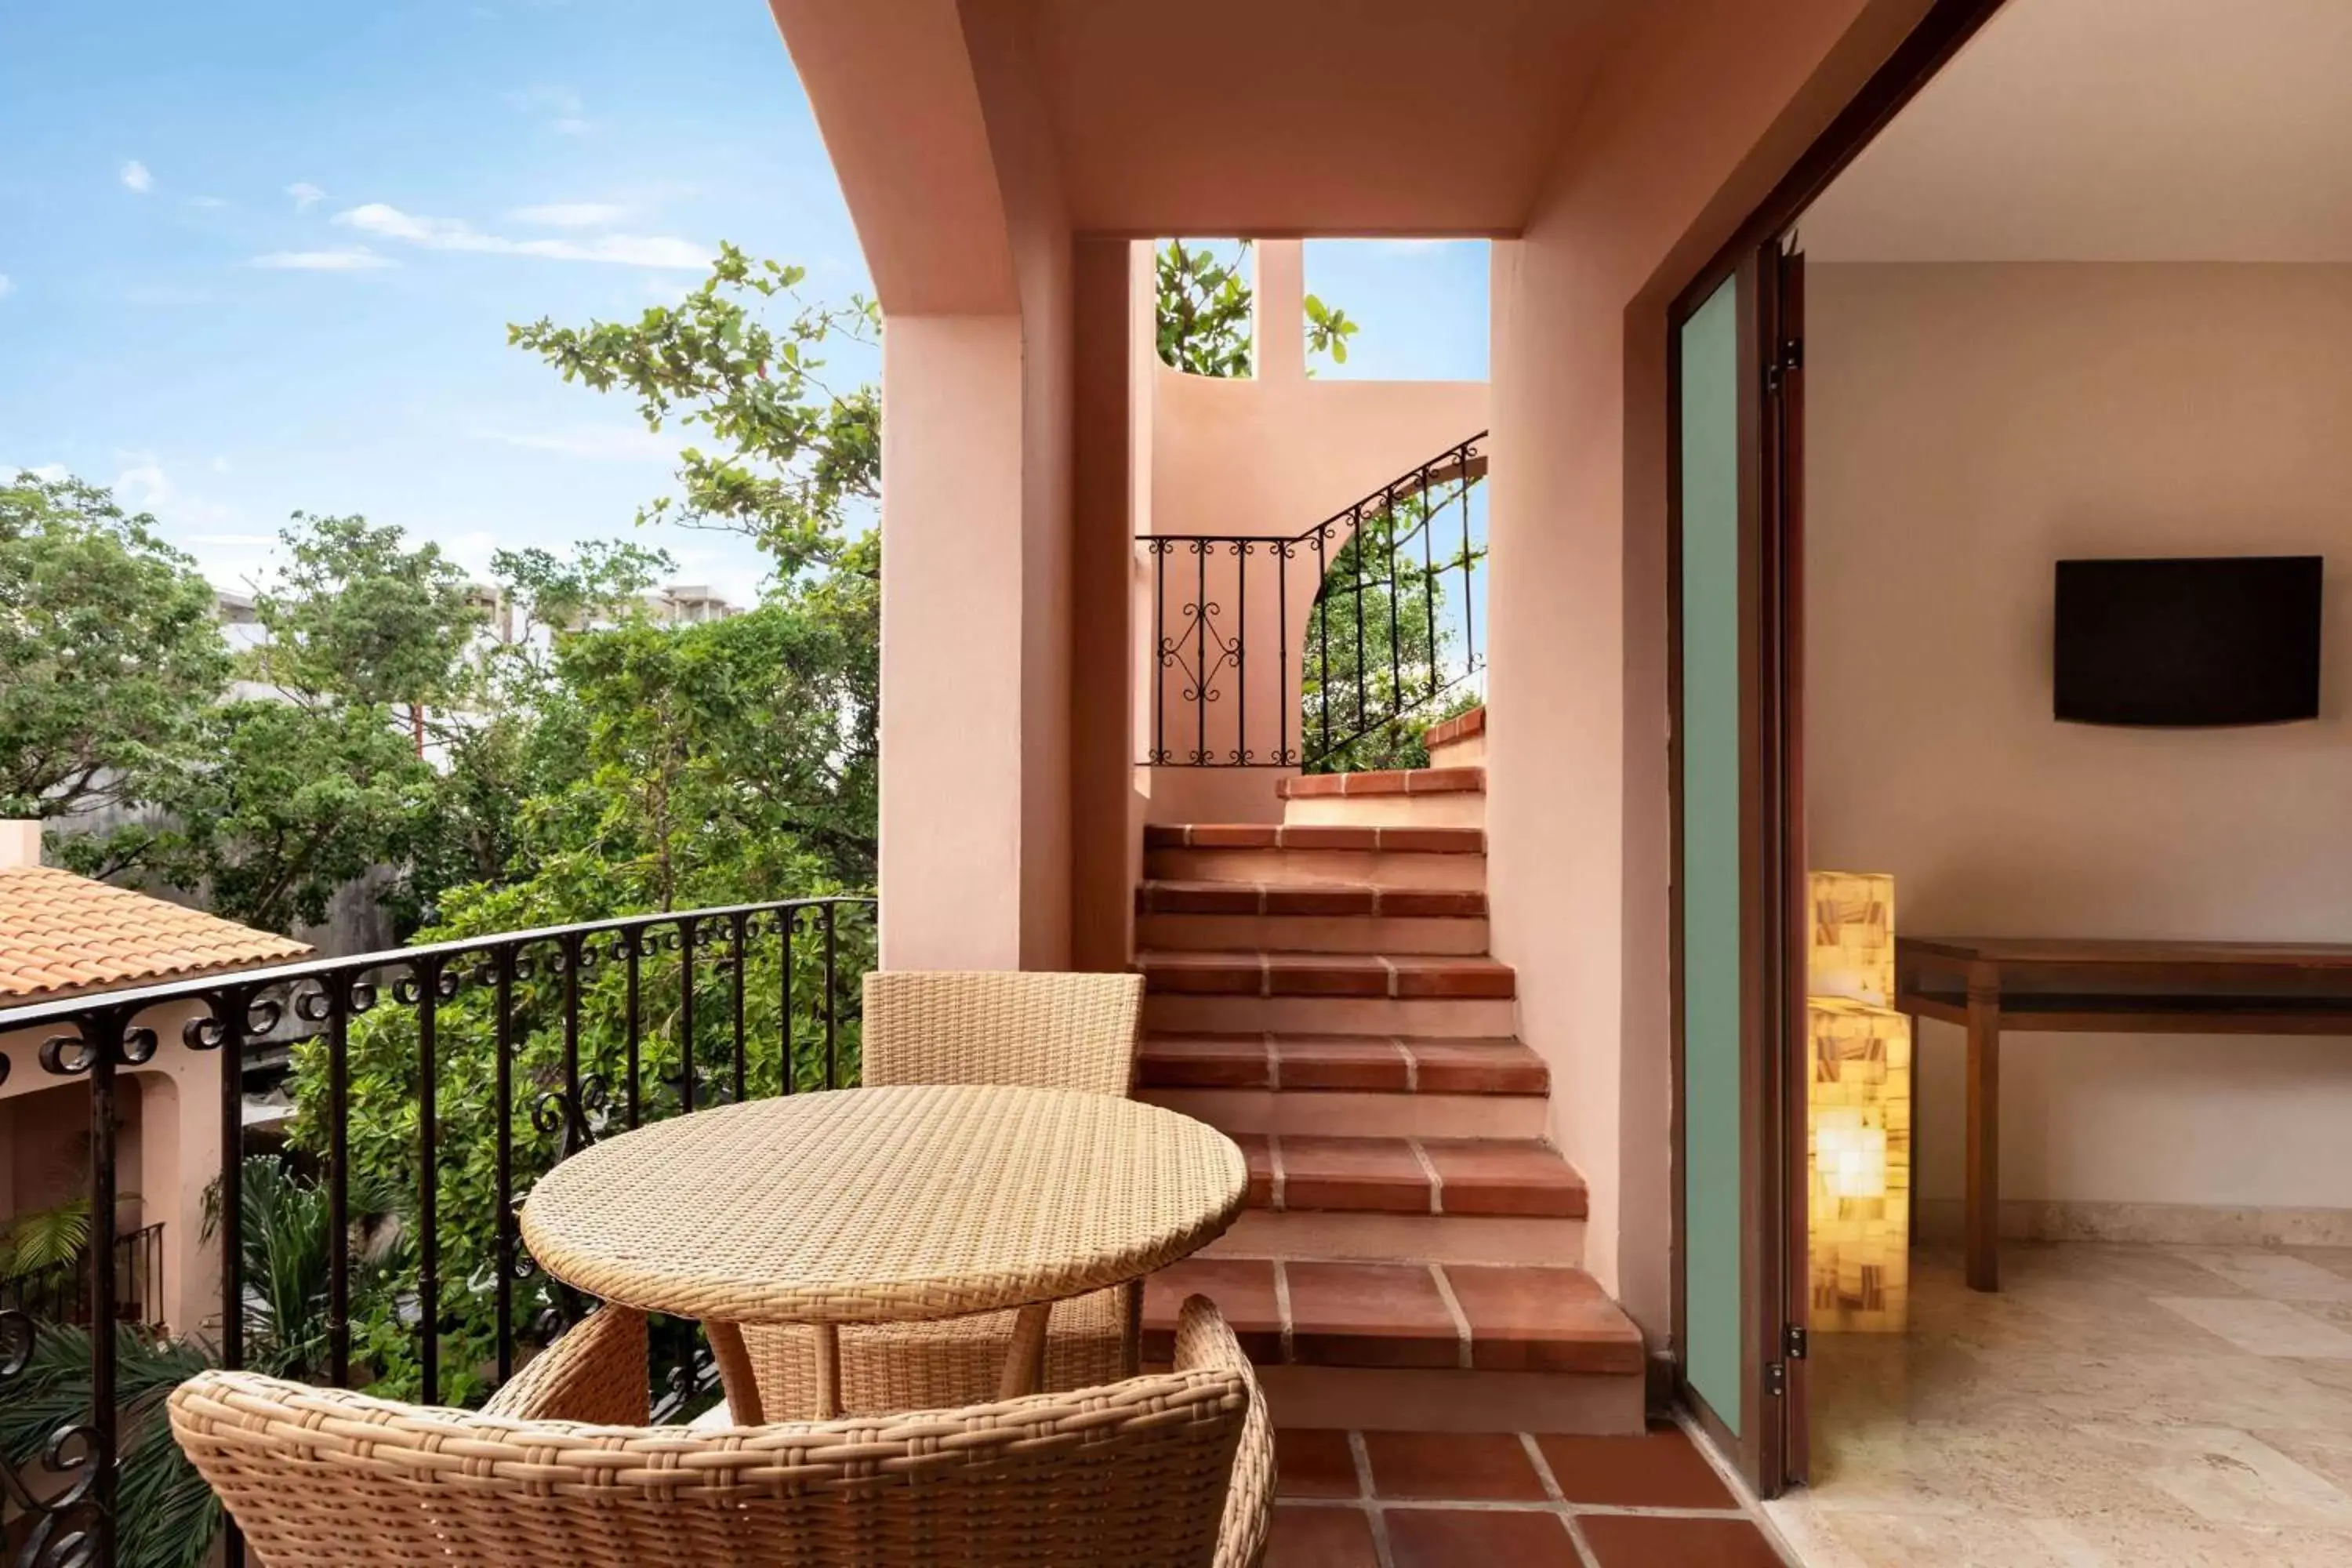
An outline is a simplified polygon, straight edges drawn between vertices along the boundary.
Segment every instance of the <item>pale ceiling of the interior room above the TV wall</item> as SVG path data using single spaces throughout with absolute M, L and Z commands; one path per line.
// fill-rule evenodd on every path
M 2009 0 L 1816 261 L 2352 261 L 2352 0 Z

